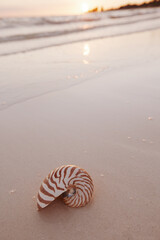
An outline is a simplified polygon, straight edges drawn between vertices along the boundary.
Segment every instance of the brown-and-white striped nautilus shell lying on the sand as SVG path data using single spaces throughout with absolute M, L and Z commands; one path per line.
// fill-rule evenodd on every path
M 92 197 L 93 181 L 82 168 L 65 165 L 51 171 L 40 186 L 38 209 L 47 207 L 60 195 L 70 207 L 83 207 Z

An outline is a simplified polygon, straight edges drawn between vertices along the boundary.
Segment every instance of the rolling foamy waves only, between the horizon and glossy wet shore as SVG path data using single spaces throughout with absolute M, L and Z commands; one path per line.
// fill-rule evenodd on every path
M 160 8 L 79 16 L 1 18 L 0 56 L 160 27 Z

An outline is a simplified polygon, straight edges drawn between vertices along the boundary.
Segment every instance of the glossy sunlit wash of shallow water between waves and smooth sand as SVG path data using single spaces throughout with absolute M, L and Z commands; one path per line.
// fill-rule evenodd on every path
M 128 68 L 138 64 L 143 65 L 145 62 L 156 61 L 160 54 L 159 34 L 160 30 L 158 29 L 41 49 L 35 52 L 28 52 L 25 55 L 18 54 L 0 58 L 1 66 L 5 66 L 3 70 L 4 87 L 2 85 L 0 111 L 21 102 L 79 85 L 85 81 L 92 81 L 92 79 L 103 74 L 108 74 L 124 67 Z M 151 45 L 152 40 L 154 41 L 153 45 Z M 143 45 L 143 48 L 141 45 Z M 132 47 L 135 50 L 132 50 Z M 75 49 L 75 53 L 70 58 L 71 48 Z M 98 51 L 95 50 L 96 48 L 98 48 Z M 147 48 L 148 52 L 145 52 Z M 105 52 L 104 49 L 106 49 Z M 50 54 L 48 54 L 49 51 Z M 137 51 L 140 54 L 137 55 Z M 55 55 L 53 56 L 52 53 L 54 52 Z M 65 53 L 65 56 L 63 56 L 62 52 Z M 128 52 L 130 52 L 130 55 Z M 39 60 L 41 59 L 41 54 L 44 55 L 42 62 Z M 96 58 L 94 54 L 97 55 Z M 56 56 L 59 56 L 58 59 Z M 14 63 L 15 58 L 16 63 Z M 61 60 L 63 58 L 64 60 Z M 37 66 L 39 64 L 42 68 L 40 74 L 37 72 L 37 66 L 35 65 L 36 67 L 34 68 L 29 61 L 35 62 Z M 20 72 L 20 75 L 17 75 L 14 70 L 17 69 L 17 66 L 23 69 L 24 76 L 23 71 Z M 56 75 L 56 78 L 52 77 L 52 75 Z M 32 76 L 36 76 L 34 81 Z

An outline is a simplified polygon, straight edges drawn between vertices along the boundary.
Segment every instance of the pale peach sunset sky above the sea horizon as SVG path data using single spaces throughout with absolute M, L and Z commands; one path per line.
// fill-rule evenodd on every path
M 96 6 L 106 9 L 142 2 L 144 0 L 0 0 L 0 17 L 74 15 Z

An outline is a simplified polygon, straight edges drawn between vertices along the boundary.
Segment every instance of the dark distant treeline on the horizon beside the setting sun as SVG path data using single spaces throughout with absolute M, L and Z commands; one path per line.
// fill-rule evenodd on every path
M 112 10 L 121 10 L 121 9 L 133 9 L 133 8 L 146 8 L 146 7 L 160 7 L 160 0 L 152 0 L 150 2 L 144 2 L 142 4 L 127 4 L 124 6 L 121 6 L 119 8 L 112 8 L 105 10 L 103 7 L 99 8 L 93 8 L 89 10 L 88 12 L 104 12 L 104 11 L 112 11 Z

